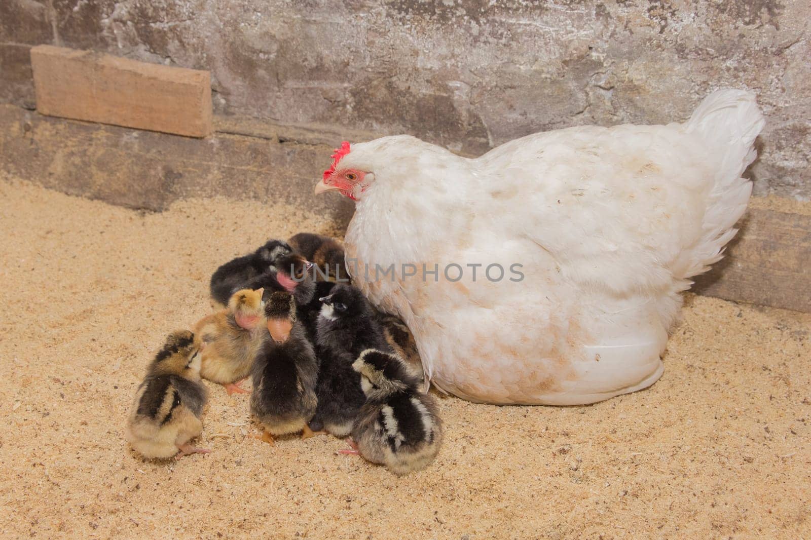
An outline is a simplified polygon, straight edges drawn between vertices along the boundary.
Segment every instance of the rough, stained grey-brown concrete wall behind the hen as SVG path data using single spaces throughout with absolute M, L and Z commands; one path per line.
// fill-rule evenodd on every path
M 3 0 L 0 17 L 0 100 L 31 104 L 24 45 L 52 42 L 210 69 L 221 114 L 474 154 L 679 120 L 711 89 L 751 88 L 768 118 L 756 192 L 811 199 L 805 1 Z

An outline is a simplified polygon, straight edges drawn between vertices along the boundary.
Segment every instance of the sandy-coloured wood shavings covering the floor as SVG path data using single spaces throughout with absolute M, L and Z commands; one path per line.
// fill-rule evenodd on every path
M 440 401 L 435 465 L 397 478 L 330 437 L 246 436 L 142 461 L 122 430 L 165 334 L 217 264 L 319 216 L 189 200 L 144 214 L 0 181 L 0 530 L 6 538 L 811 536 L 811 315 L 689 297 L 663 379 L 587 407 Z

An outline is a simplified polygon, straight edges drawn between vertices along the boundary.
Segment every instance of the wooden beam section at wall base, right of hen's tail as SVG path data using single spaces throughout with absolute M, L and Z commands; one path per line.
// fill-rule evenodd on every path
M 749 208 L 739 227 L 694 292 L 811 312 L 811 216 Z

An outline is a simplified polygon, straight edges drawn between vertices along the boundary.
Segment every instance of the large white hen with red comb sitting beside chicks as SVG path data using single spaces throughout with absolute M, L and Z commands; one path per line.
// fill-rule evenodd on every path
M 476 159 L 384 137 L 344 144 L 315 191 L 358 201 L 350 272 L 408 324 L 433 384 L 592 403 L 662 375 L 680 293 L 736 233 L 762 126 L 751 93 L 721 90 L 683 124 L 572 127 Z

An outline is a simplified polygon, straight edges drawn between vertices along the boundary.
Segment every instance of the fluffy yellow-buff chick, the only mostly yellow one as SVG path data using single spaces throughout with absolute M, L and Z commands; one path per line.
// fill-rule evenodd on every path
M 239 383 L 251 373 L 251 365 L 264 337 L 264 289 L 242 289 L 228 301 L 228 309 L 208 315 L 195 324 L 200 345 L 200 375 L 222 384 L 230 396 L 249 393 Z

